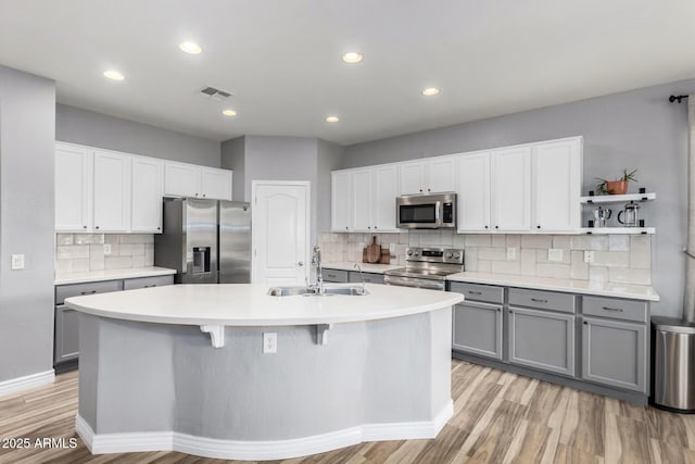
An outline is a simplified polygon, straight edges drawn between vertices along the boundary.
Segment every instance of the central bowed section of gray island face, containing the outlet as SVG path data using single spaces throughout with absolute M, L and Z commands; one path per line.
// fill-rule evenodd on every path
M 264 331 L 278 335 L 277 353 L 263 353 Z M 177 430 L 257 441 L 359 425 L 367 349 L 365 323 L 334 325 L 325 346 L 315 326 L 226 327 L 220 349 L 186 339 L 175 349 Z

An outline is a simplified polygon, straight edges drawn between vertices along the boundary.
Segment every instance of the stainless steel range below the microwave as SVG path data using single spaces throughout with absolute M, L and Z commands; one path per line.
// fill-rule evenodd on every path
M 445 290 L 446 276 L 464 272 L 462 249 L 410 247 L 405 256 L 405 267 L 383 273 L 384 284 Z

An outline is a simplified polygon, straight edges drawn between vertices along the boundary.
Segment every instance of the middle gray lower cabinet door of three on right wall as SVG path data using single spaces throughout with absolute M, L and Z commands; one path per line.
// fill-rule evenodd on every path
M 509 362 L 574 375 L 574 316 L 509 308 Z

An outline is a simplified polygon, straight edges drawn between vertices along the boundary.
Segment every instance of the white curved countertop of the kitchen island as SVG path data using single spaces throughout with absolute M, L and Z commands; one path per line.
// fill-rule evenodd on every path
M 366 285 L 366 296 L 270 297 L 270 286 L 197 284 L 74 297 L 65 304 L 102 317 L 180 325 L 287 326 L 351 323 L 452 306 L 459 293 Z

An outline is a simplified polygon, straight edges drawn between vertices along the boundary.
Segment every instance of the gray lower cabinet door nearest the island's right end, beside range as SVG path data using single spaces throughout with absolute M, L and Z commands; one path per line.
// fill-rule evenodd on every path
M 466 301 L 454 306 L 452 348 L 502 360 L 502 305 Z

